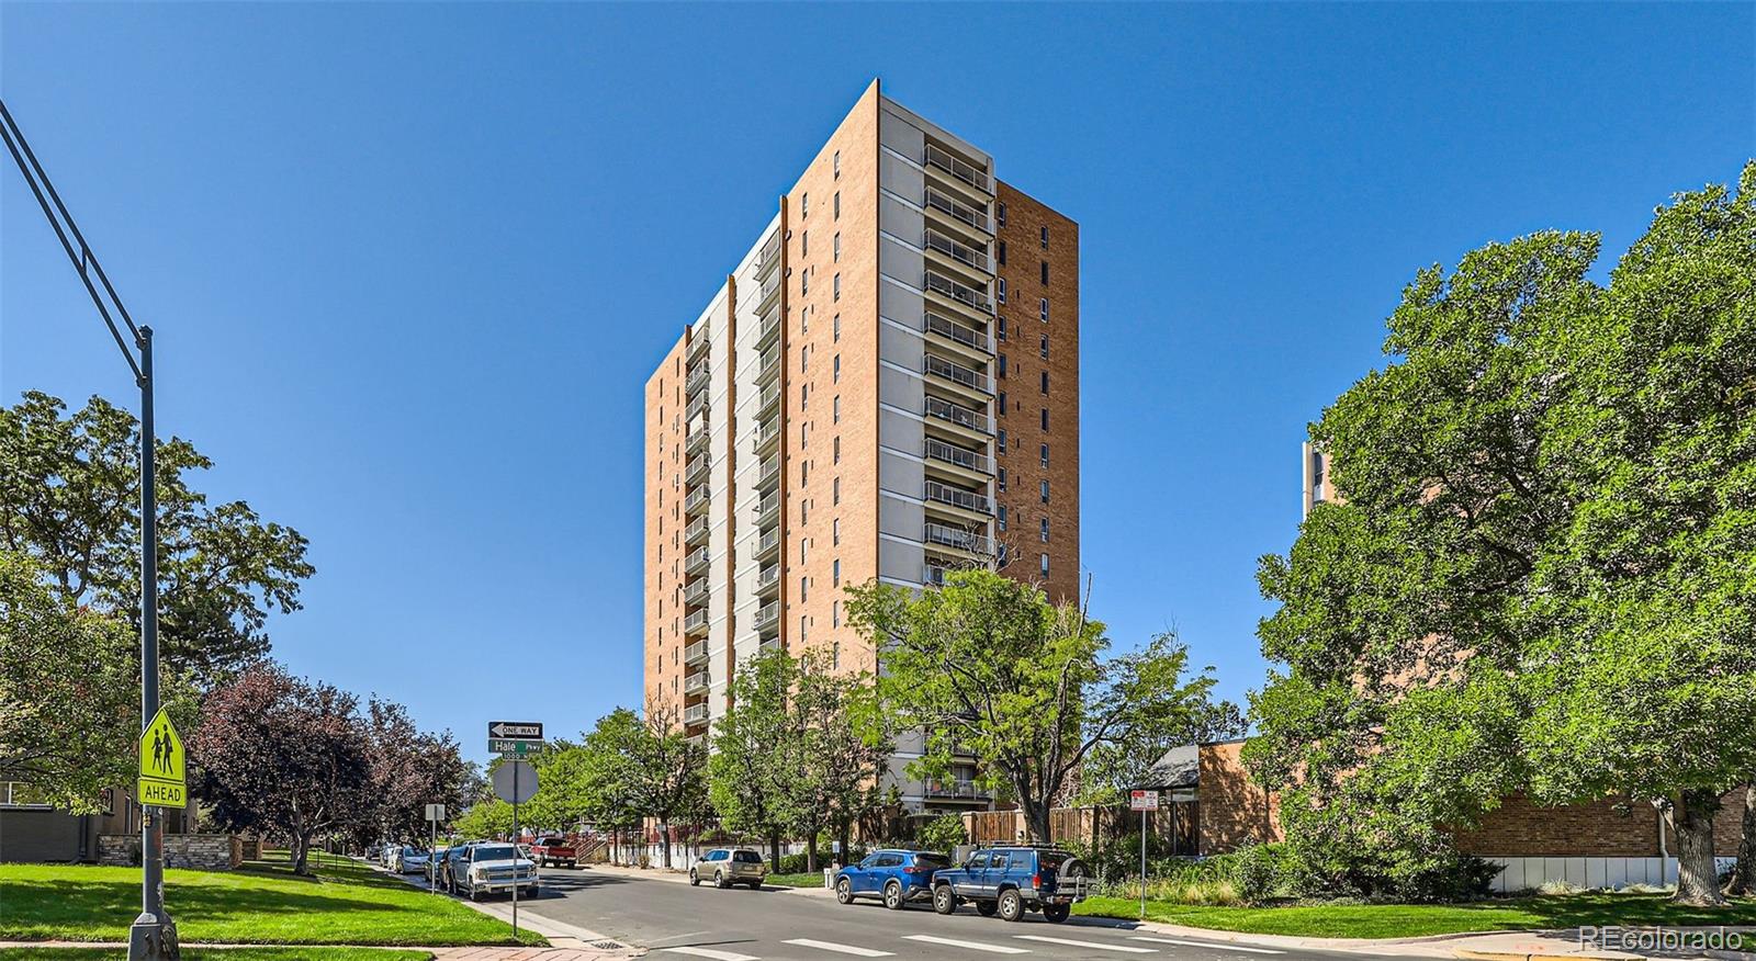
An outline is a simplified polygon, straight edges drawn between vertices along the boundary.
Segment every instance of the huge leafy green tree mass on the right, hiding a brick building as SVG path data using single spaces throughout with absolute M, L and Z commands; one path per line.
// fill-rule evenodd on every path
M 1312 426 L 1342 502 L 1263 559 L 1247 759 L 1338 877 L 1431 870 L 1514 791 L 1617 796 L 1719 900 L 1712 814 L 1756 770 L 1752 203 L 1756 165 L 1677 196 L 1608 288 L 1584 233 L 1422 270 L 1394 363 Z

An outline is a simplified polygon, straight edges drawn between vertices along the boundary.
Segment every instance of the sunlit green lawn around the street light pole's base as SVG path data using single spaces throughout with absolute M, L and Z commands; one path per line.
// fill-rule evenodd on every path
M 518 943 L 509 924 L 363 865 L 328 858 L 313 870 L 299 877 L 284 858 L 235 872 L 172 868 L 165 905 L 184 943 Z M 123 942 L 140 914 L 140 868 L 0 865 L 0 940 Z M 530 931 L 520 940 L 546 943 Z

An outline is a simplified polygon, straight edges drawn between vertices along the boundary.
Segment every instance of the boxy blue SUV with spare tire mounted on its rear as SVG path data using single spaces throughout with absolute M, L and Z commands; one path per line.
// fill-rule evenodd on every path
M 983 917 L 1018 921 L 1027 910 L 1062 922 L 1085 900 L 1085 863 L 1055 847 L 983 847 L 955 868 L 932 875 L 932 910 L 952 914 L 971 901 Z

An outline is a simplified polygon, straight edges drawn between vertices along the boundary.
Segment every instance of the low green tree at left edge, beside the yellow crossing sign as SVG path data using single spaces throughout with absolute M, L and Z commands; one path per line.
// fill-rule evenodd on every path
M 133 777 L 139 658 L 128 626 L 77 609 L 25 554 L 0 549 L 0 780 L 42 801 L 98 810 Z

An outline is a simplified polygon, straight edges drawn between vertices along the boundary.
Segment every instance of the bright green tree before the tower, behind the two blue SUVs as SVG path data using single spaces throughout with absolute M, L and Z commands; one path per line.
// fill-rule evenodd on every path
M 1184 679 L 1187 649 L 1169 635 L 1105 659 L 1105 626 L 1082 607 L 989 570 L 952 572 L 918 596 L 869 582 L 850 589 L 850 623 L 878 645 L 880 694 L 897 724 L 925 731 L 915 775 L 948 770 L 971 747 L 1010 789 L 1026 829 L 1048 842 L 1048 812 L 1101 745 L 1143 740 L 1208 710 L 1213 679 Z

